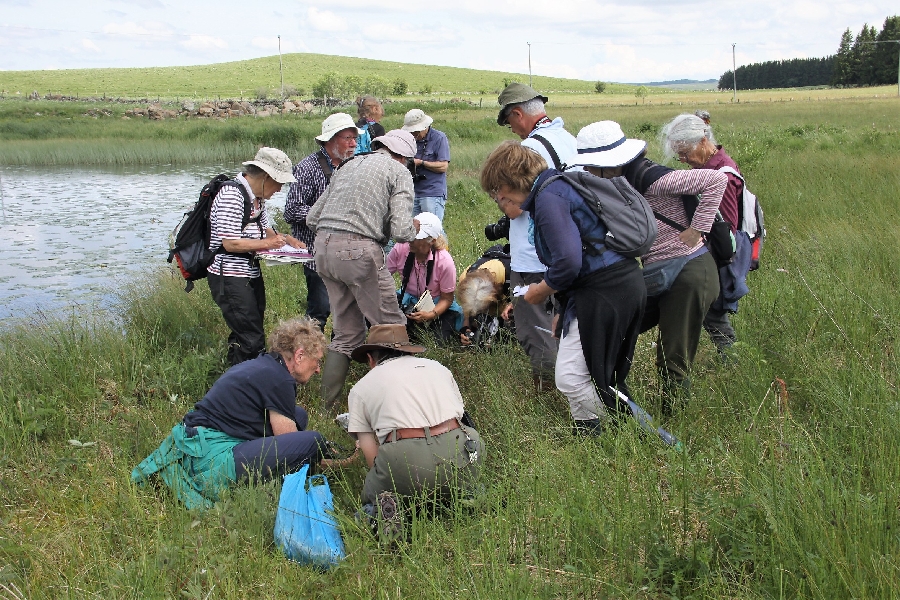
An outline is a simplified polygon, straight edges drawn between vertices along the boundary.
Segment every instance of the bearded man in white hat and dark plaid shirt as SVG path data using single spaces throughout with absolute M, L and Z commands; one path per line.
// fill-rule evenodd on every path
M 346 113 L 335 113 L 322 121 L 322 135 L 316 136 L 321 146 L 294 167 L 294 178 L 284 204 L 284 220 L 291 224 L 291 233 L 314 252 L 315 234 L 306 225 L 306 216 L 316 200 L 328 187 L 331 174 L 341 161 L 353 156 L 356 137 L 360 132 L 353 118 Z M 316 272 L 313 261 L 304 263 L 306 276 L 306 316 L 319 322 L 325 331 L 325 322 L 331 312 L 325 283 Z

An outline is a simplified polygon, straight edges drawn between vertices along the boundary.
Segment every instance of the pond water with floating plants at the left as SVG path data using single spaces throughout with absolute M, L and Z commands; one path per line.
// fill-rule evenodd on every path
M 168 266 L 169 235 L 200 188 L 239 169 L 0 168 L 0 325 L 108 308 L 117 284 Z

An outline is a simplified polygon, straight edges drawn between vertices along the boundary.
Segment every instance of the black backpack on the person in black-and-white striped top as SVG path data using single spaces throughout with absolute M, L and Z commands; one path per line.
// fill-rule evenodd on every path
M 231 254 L 232 256 L 246 256 L 253 258 L 249 253 L 227 252 L 219 246 L 215 251 L 209 249 L 210 222 L 209 216 L 212 210 L 212 201 L 225 186 L 236 187 L 244 197 L 244 216 L 241 221 L 241 229 L 250 222 L 252 200 L 243 185 L 234 181 L 228 175 L 216 175 L 200 190 L 200 198 L 194 204 L 194 208 L 184 213 L 181 221 L 172 230 L 171 248 L 166 262 L 174 259 L 178 263 L 181 276 L 187 281 L 185 292 L 194 289 L 194 282 L 206 277 L 206 269 L 212 264 L 217 254 Z

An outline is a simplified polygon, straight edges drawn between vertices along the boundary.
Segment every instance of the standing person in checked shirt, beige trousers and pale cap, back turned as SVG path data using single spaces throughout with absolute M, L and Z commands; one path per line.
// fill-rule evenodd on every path
M 334 337 L 322 370 L 322 399 L 334 413 L 350 369 L 350 353 L 371 325 L 406 325 L 394 278 L 386 268 L 389 239 L 411 242 L 413 183 L 407 167 L 416 141 L 393 130 L 372 141 L 371 154 L 357 154 L 335 171 L 328 189 L 306 217 L 316 234 L 316 270 L 333 311 Z

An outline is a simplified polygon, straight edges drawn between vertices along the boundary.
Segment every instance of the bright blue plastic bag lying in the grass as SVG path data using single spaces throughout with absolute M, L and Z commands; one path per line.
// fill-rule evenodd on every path
M 275 543 L 290 560 L 329 569 L 343 560 L 344 541 L 334 520 L 328 479 L 313 475 L 309 465 L 287 475 L 275 515 Z

